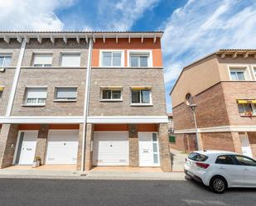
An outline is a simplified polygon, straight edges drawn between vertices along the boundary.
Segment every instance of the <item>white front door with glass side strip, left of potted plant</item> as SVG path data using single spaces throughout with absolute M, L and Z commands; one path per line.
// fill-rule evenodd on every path
M 36 152 L 37 131 L 26 131 L 20 133 L 17 164 L 32 165 Z

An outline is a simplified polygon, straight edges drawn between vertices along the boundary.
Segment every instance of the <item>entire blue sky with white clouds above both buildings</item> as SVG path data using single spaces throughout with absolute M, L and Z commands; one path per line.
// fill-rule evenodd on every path
M 0 11 L 0 31 L 164 31 L 167 112 L 184 66 L 256 47 L 256 0 L 0 0 Z

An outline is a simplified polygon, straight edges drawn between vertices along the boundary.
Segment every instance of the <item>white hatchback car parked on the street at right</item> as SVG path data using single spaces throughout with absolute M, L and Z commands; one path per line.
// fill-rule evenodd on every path
M 193 151 L 184 170 L 219 194 L 232 187 L 256 187 L 256 160 L 230 151 Z

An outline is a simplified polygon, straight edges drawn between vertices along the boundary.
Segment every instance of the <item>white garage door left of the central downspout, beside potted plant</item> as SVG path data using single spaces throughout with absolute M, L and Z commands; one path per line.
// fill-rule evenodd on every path
M 46 164 L 76 164 L 78 136 L 78 130 L 49 131 Z

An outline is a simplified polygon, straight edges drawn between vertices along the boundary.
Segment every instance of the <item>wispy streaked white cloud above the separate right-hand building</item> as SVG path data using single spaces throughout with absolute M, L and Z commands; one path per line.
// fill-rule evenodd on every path
M 169 93 L 185 65 L 221 48 L 255 48 L 256 2 L 189 0 L 160 29 Z

